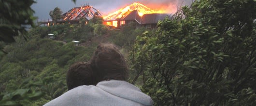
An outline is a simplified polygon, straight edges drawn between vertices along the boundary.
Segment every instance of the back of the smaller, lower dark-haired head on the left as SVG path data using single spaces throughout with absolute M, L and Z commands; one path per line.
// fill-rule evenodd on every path
M 68 90 L 81 85 L 93 84 L 93 72 L 89 63 L 77 62 L 70 66 L 67 72 L 67 86 Z

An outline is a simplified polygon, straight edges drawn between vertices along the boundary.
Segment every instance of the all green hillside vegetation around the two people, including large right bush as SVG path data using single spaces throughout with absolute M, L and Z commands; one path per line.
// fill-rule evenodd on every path
M 155 106 L 256 104 L 256 0 L 196 0 L 154 30 L 133 24 L 113 30 L 95 17 L 1 42 L 7 54 L 0 54 L 0 105 L 42 106 L 65 93 L 69 66 L 88 61 L 101 42 L 121 47 L 128 81 Z

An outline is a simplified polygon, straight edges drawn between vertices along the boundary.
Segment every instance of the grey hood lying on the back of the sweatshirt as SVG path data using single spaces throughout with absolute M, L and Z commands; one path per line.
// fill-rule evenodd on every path
M 100 89 L 105 92 L 111 93 L 115 96 L 128 99 L 141 103 L 145 106 L 152 106 L 153 100 L 148 95 L 141 92 L 141 90 L 126 82 L 121 80 L 110 80 L 110 81 L 101 81 L 97 85 Z

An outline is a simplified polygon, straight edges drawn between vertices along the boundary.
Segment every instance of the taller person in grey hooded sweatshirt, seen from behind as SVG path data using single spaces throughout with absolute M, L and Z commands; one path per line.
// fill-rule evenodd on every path
M 114 44 L 100 44 L 91 61 L 93 84 L 71 89 L 44 106 L 152 106 L 150 96 L 125 81 L 127 65 Z

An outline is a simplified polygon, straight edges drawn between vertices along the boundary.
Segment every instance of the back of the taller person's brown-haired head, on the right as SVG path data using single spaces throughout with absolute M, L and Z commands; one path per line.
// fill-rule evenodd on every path
M 102 80 L 126 80 L 127 65 L 124 56 L 114 44 L 98 45 L 91 58 L 91 65 L 96 72 L 96 84 Z

